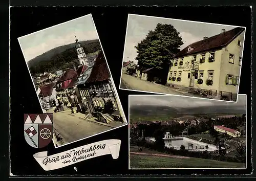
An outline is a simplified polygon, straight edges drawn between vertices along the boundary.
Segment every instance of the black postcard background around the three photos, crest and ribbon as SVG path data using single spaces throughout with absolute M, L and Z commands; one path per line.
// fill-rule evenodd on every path
M 133 174 L 250 174 L 251 173 L 251 9 L 250 7 L 19 7 L 11 8 L 10 26 L 10 97 L 11 97 L 11 173 L 13 175 L 133 175 Z M 177 170 L 129 170 L 128 126 L 55 149 L 35 149 L 29 146 L 23 133 L 23 114 L 38 113 L 41 108 L 36 96 L 26 62 L 17 38 L 62 22 L 92 13 L 106 60 L 110 66 L 125 116 L 128 118 L 128 95 L 143 94 L 119 90 L 122 56 L 126 32 L 127 14 L 141 14 L 185 20 L 212 22 L 246 27 L 245 47 L 239 94 L 247 94 L 247 169 L 177 169 Z M 203 36 L 203 35 L 202 35 Z M 120 139 L 119 159 L 111 155 L 96 157 L 66 168 L 44 171 L 36 163 L 33 154 L 47 150 L 54 154 L 81 145 L 106 139 Z M 75 172 L 74 168 L 77 168 Z

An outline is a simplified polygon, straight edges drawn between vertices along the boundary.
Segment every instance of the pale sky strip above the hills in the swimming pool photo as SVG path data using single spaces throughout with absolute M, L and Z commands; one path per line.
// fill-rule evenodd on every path
M 199 107 L 199 106 L 245 106 L 246 95 L 239 95 L 238 102 L 216 101 L 210 99 L 181 97 L 181 96 L 130 96 L 130 105 L 165 105 L 170 107 Z

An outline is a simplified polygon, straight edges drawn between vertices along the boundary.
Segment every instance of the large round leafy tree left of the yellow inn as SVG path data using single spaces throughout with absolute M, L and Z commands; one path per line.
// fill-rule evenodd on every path
M 172 25 L 157 24 L 154 31 L 148 32 L 147 36 L 138 43 L 138 65 L 140 70 L 154 67 L 154 76 L 166 83 L 170 60 L 180 51 L 183 41 L 179 32 Z

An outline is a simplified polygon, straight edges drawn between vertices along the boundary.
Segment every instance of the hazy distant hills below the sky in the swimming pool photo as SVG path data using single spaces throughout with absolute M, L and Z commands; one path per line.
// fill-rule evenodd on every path
M 193 108 L 174 108 L 158 105 L 131 105 L 130 121 L 165 121 L 186 115 L 220 115 L 220 114 L 245 114 L 244 107 L 240 106 L 203 106 Z

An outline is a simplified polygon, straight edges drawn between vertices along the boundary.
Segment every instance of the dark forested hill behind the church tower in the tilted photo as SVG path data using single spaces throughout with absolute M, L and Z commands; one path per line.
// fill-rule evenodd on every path
M 74 42 L 56 47 L 28 61 L 32 76 L 72 67 L 74 63 L 77 63 L 76 61 L 78 59 L 75 44 Z M 101 49 L 98 39 L 81 41 L 80 44 L 86 54 L 91 54 Z

